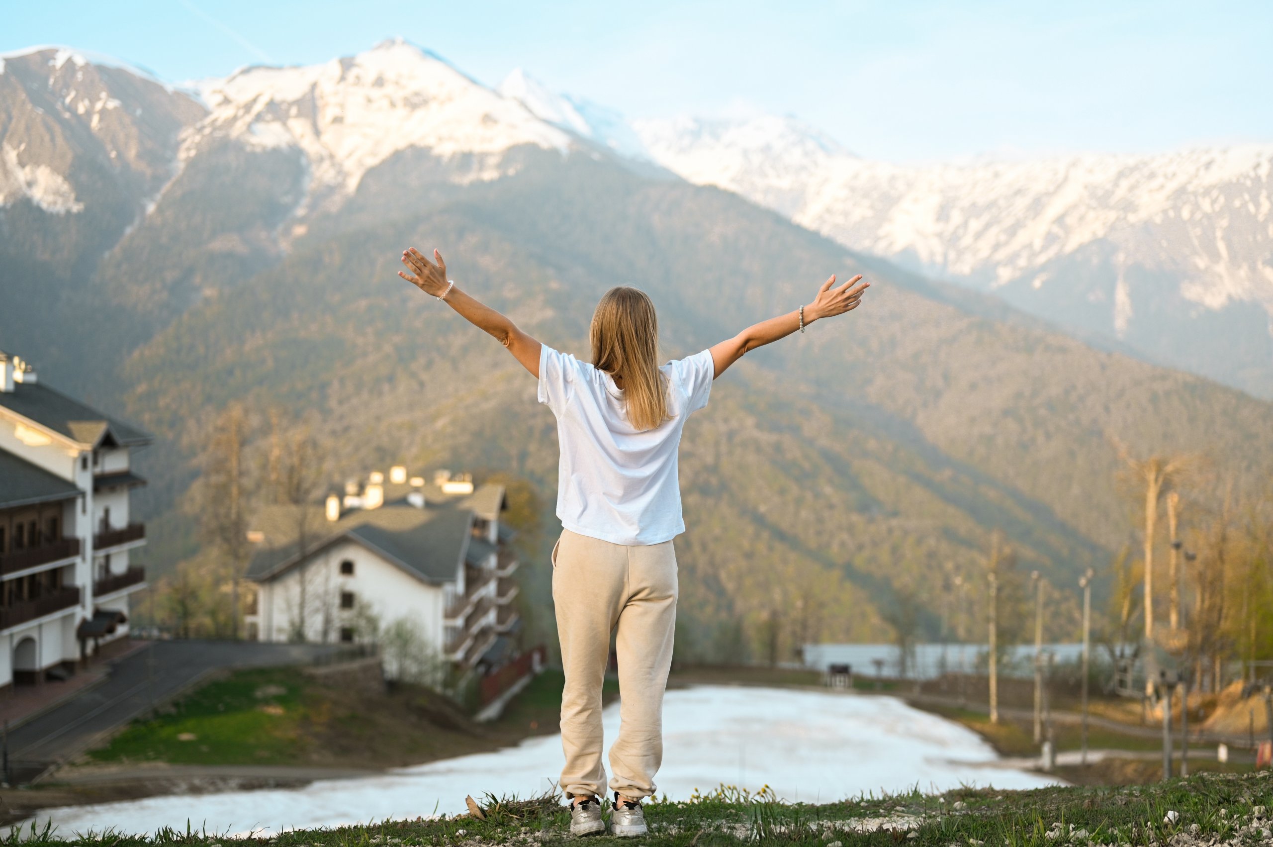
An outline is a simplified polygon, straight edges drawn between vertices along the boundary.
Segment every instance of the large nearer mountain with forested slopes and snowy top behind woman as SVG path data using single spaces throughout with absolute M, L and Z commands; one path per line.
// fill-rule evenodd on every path
M 749 355 L 687 428 L 690 652 L 760 650 L 766 627 L 784 655 L 878 638 L 910 597 L 936 633 L 945 574 L 979 573 L 993 529 L 1072 611 L 1074 576 L 1129 537 L 1114 439 L 1204 451 L 1239 492 L 1273 461 L 1269 404 L 695 186 L 642 153 L 647 126 L 569 101 L 541 117 L 524 75 L 500 93 L 404 42 L 199 92 L 65 50 L 4 62 L 0 349 L 159 437 L 153 568 L 192 549 L 193 456 L 230 400 L 303 422 L 334 479 L 519 474 L 551 527 L 551 415 L 507 353 L 395 276 L 406 245 L 580 355 L 614 284 L 652 293 L 682 355 L 831 271 L 876 283 L 848 318 Z

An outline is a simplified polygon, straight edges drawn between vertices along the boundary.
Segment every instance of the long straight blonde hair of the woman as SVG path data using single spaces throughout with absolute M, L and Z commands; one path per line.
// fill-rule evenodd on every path
M 658 317 L 645 292 L 620 285 L 592 313 L 592 364 L 624 380 L 628 422 L 653 429 L 667 413 L 667 376 L 658 369 Z

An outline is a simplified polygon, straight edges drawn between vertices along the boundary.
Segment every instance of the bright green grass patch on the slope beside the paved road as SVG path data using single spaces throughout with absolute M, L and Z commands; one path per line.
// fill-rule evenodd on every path
M 109 744 L 89 753 L 97 762 L 172 764 L 275 763 L 297 758 L 304 743 L 307 679 L 293 669 L 236 671 L 134 721 Z

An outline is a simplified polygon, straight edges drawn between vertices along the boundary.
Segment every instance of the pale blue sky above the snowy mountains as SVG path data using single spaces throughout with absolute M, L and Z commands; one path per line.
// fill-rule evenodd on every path
M 794 115 L 872 158 L 1273 141 L 1273 3 L 0 0 L 0 51 L 167 80 L 402 36 L 489 84 L 524 68 L 635 117 Z

